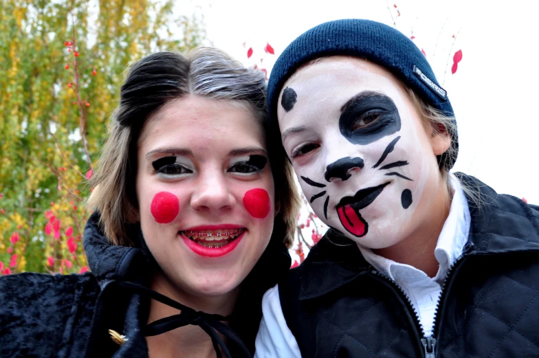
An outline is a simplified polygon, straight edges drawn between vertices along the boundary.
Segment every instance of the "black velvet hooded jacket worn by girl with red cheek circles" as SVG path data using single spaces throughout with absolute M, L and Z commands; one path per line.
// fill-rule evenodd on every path
M 0 357 L 148 357 L 142 328 L 149 299 L 120 287 L 147 285 L 156 268 L 140 247 L 111 245 L 93 214 L 84 233 L 91 273 L 20 273 L 0 278 Z M 243 282 L 230 326 L 254 353 L 261 299 L 290 267 L 287 249 L 276 240 Z M 109 329 L 128 339 L 115 344 Z M 230 345 L 232 357 L 235 347 Z

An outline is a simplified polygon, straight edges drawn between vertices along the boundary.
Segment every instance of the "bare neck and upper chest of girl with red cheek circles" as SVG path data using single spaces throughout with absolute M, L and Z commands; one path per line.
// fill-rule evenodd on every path
M 223 316 L 232 313 L 239 293 L 239 290 L 236 289 L 225 295 L 218 296 L 190 295 L 175 287 L 173 282 L 170 282 L 162 272 L 155 274 L 151 282 L 151 289 L 195 311 Z M 177 315 L 178 313 L 180 311 L 173 307 L 151 300 L 148 324 L 164 317 Z M 226 324 L 226 322 L 223 323 Z M 226 342 L 225 337 L 220 336 Z M 146 342 L 148 343 L 148 355 L 151 358 L 216 357 L 212 339 L 199 326 L 188 325 L 179 327 L 161 335 L 146 337 Z

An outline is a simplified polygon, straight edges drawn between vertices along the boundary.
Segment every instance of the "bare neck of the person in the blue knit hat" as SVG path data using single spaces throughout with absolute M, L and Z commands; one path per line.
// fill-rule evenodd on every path
M 413 266 L 425 272 L 429 277 L 436 276 L 439 262 L 434 256 L 434 249 L 436 249 L 443 223 L 448 219 L 451 197 L 441 178 L 435 190 L 438 194 L 434 198 L 423 199 L 428 205 L 423 205 L 423 210 L 416 210 L 414 213 L 423 218 L 422 224 L 399 243 L 384 249 L 373 249 L 375 254 Z

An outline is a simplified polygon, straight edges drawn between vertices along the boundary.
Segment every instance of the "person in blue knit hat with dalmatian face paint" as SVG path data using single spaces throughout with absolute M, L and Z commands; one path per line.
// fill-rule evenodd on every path
M 452 107 L 410 39 L 318 25 L 268 107 L 330 230 L 265 294 L 256 357 L 539 356 L 539 208 L 449 173 Z

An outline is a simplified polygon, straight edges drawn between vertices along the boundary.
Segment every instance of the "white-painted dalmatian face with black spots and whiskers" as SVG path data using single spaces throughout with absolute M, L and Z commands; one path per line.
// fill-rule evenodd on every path
M 294 74 L 278 103 L 287 155 L 327 225 L 381 249 L 429 217 L 440 182 L 434 137 L 392 74 L 360 58 L 325 58 Z

